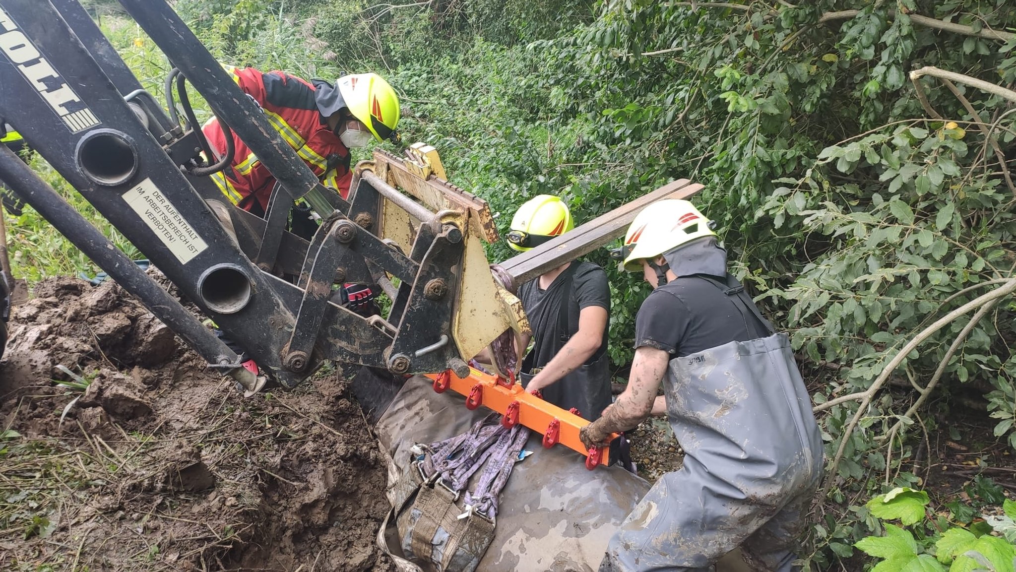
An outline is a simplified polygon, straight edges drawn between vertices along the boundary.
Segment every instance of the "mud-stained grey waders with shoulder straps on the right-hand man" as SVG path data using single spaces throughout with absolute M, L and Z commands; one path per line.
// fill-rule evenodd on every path
M 746 323 L 754 314 L 771 332 L 740 284 L 710 281 L 734 298 Z M 664 391 L 684 466 L 657 481 L 628 515 L 600 571 L 708 570 L 739 546 L 756 570 L 790 570 L 823 459 L 786 335 L 675 358 Z

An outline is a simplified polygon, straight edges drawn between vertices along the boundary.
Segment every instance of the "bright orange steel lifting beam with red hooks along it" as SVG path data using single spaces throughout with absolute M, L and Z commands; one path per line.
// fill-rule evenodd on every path
M 589 470 L 611 463 L 610 447 L 593 447 L 587 450 L 578 438 L 578 430 L 590 422 L 577 414 L 548 403 L 541 397 L 527 393 L 515 380 L 505 380 L 497 375 L 486 374 L 469 368 L 469 376 L 458 377 L 451 370 L 438 374 L 427 374 L 434 383 L 434 390 L 443 393 L 448 389 L 465 395 L 465 406 L 475 409 L 484 406 L 503 416 L 501 425 L 512 427 L 522 424 L 544 436 L 544 447 L 550 448 L 561 443 L 565 447 L 585 456 L 585 467 Z M 619 435 L 614 434 L 611 441 Z

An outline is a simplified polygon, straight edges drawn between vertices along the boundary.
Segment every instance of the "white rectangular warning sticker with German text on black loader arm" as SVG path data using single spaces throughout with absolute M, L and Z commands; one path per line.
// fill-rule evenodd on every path
M 123 197 L 181 264 L 190 262 L 208 248 L 151 179 L 141 181 Z

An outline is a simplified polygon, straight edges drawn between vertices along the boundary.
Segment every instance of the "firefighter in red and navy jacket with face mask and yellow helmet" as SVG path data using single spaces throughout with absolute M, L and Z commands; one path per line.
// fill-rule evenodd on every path
M 306 81 L 282 71 L 226 66 L 268 122 L 321 182 L 345 198 L 350 193 L 350 147 L 371 139 L 397 140 L 398 97 L 376 73 L 343 75 L 334 84 Z M 226 154 L 226 137 L 212 119 L 202 128 L 212 150 Z M 275 178 L 234 134 L 233 165 L 212 175 L 223 194 L 244 210 L 264 215 Z

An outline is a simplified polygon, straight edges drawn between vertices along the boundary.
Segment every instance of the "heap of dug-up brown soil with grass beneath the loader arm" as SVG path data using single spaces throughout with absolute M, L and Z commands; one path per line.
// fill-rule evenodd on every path
M 47 280 L 9 326 L 0 569 L 393 569 L 384 463 L 334 374 L 244 399 L 112 281 Z

